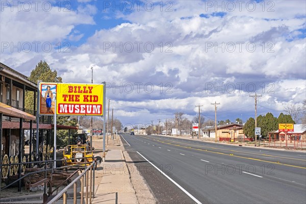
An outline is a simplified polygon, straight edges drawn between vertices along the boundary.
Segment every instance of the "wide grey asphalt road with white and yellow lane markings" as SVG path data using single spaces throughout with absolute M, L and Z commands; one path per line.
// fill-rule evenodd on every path
M 159 203 L 306 203 L 304 152 L 161 136 L 121 138 Z

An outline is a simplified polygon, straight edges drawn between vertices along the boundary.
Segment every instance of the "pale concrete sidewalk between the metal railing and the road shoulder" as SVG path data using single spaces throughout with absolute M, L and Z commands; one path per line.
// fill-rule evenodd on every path
M 120 146 L 118 143 L 120 142 Z M 102 141 L 94 141 L 93 146 L 99 146 Z M 97 176 L 103 176 L 95 188 L 92 203 L 139 203 L 130 179 L 122 153 L 120 140 L 109 140 L 105 162 L 96 169 Z

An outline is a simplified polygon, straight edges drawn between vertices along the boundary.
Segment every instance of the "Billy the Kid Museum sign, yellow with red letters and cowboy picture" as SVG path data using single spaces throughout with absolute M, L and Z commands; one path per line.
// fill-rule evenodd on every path
M 42 83 L 40 114 L 103 116 L 104 84 Z M 55 100 L 56 97 L 56 100 Z

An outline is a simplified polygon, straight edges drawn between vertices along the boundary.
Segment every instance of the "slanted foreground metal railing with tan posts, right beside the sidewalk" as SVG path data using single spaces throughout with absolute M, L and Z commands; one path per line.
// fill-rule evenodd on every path
M 94 177 L 95 177 L 95 161 L 93 161 L 76 179 L 74 179 L 69 185 L 67 185 L 62 191 L 55 196 L 50 196 L 44 203 L 55 203 L 60 198 L 63 199 L 63 203 L 67 203 L 67 191 L 73 186 L 73 203 L 91 203 L 91 198 L 94 195 Z M 84 182 L 85 180 L 85 182 Z M 77 196 L 77 182 L 81 181 L 81 196 L 80 202 L 78 202 Z M 84 187 L 86 191 L 84 192 Z M 85 197 L 84 197 L 85 193 Z

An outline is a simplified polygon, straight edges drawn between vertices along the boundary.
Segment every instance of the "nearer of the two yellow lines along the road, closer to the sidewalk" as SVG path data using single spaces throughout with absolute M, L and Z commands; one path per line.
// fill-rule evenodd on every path
M 143 137 L 143 136 L 139 136 L 139 137 Z M 147 137 L 144 137 L 144 138 L 147 138 Z M 238 157 L 238 158 L 242 158 L 242 159 L 249 159 L 249 160 L 255 160 L 255 161 L 260 161 L 260 162 L 267 162 L 267 163 L 271 163 L 271 164 L 279 164 L 279 165 L 284 165 L 284 166 L 291 166 L 291 167 L 295 167 L 295 168 L 306 169 L 306 167 L 302 167 L 302 166 L 295 166 L 295 165 L 284 164 L 284 163 L 279 163 L 279 162 L 271 162 L 271 161 L 255 159 L 255 158 L 249 158 L 249 157 L 242 157 L 242 156 L 237 156 L 237 155 L 233 155 L 233 154 L 225 154 L 225 153 L 222 153 L 222 152 L 210 151 L 210 150 L 207 150 L 207 149 L 197 149 L 197 148 L 193 148 L 193 147 L 181 146 L 181 145 L 177 145 L 177 144 L 163 142 L 163 141 L 155 140 L 155 139 L 151 139 L 151 138 L 147 138 L 147 139 L 154 140 L 154 141 L 161 142 L 161 143 L 165 143 L 165 144 L 169 144 L 169 145 L 173 145 L 173 146 L 180 146 L 180 147 L 184 147 L 184 148 L 188 148 L 188 149 L 194 149 L 194 150 L 199 150 L 199 151 L 207 151 L 207 152 L 211 152 L 211 153 L 219 154 L 219 155 L 226 155 L 226 156 Z M 168 140 L 168 141 L 170 141 L 170 140 Z M 197 145 L 197 146 L 199 146 L 199 145 Z M 249 152 L 246 152 L 246 153 L 249 153 Z

